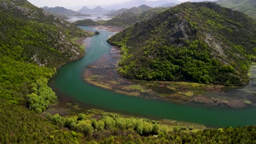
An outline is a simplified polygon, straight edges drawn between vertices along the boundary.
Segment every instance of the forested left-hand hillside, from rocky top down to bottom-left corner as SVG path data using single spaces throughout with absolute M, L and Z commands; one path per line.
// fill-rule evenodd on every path
M 36 113 L 57 99 L 48 80 L 84 56 L 72 39 L 86 35 L 25 0 L 0 0 L 0 143 L 75 143 Z

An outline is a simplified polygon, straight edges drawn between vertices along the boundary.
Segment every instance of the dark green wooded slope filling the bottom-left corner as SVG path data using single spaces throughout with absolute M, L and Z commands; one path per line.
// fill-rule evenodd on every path
M 0 143 L 78 143 L 80 137 L 62 131 L 26 107 L 0 100 Z

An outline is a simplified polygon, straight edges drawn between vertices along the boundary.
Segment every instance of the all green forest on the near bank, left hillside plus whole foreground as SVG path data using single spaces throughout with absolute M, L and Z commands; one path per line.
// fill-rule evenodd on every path
M 180 127 L 98 110 L 46 113 L 57 100 L 49 79 L 84 55 L 73 41 L 90 33 L 25 0 L 0 0 L 0 8 L 0 143 L 255 143 L 254 126 Z

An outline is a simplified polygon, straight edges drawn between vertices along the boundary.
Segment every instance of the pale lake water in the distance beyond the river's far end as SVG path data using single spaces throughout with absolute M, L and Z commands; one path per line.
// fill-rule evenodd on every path
M 90 14 L 91 16 L 70 16 L 68 22 L 75 22 L 78 20 L 91 19 L 94 21 L 109 20 L 110 17 L 104 14 Z

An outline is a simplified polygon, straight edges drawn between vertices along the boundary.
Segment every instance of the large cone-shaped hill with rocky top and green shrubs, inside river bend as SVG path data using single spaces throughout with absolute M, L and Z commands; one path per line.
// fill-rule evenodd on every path
M 246 85 L 256 53 L 247 15 L 212 2 L 182 3 L 108 39 L 130 79 Z

